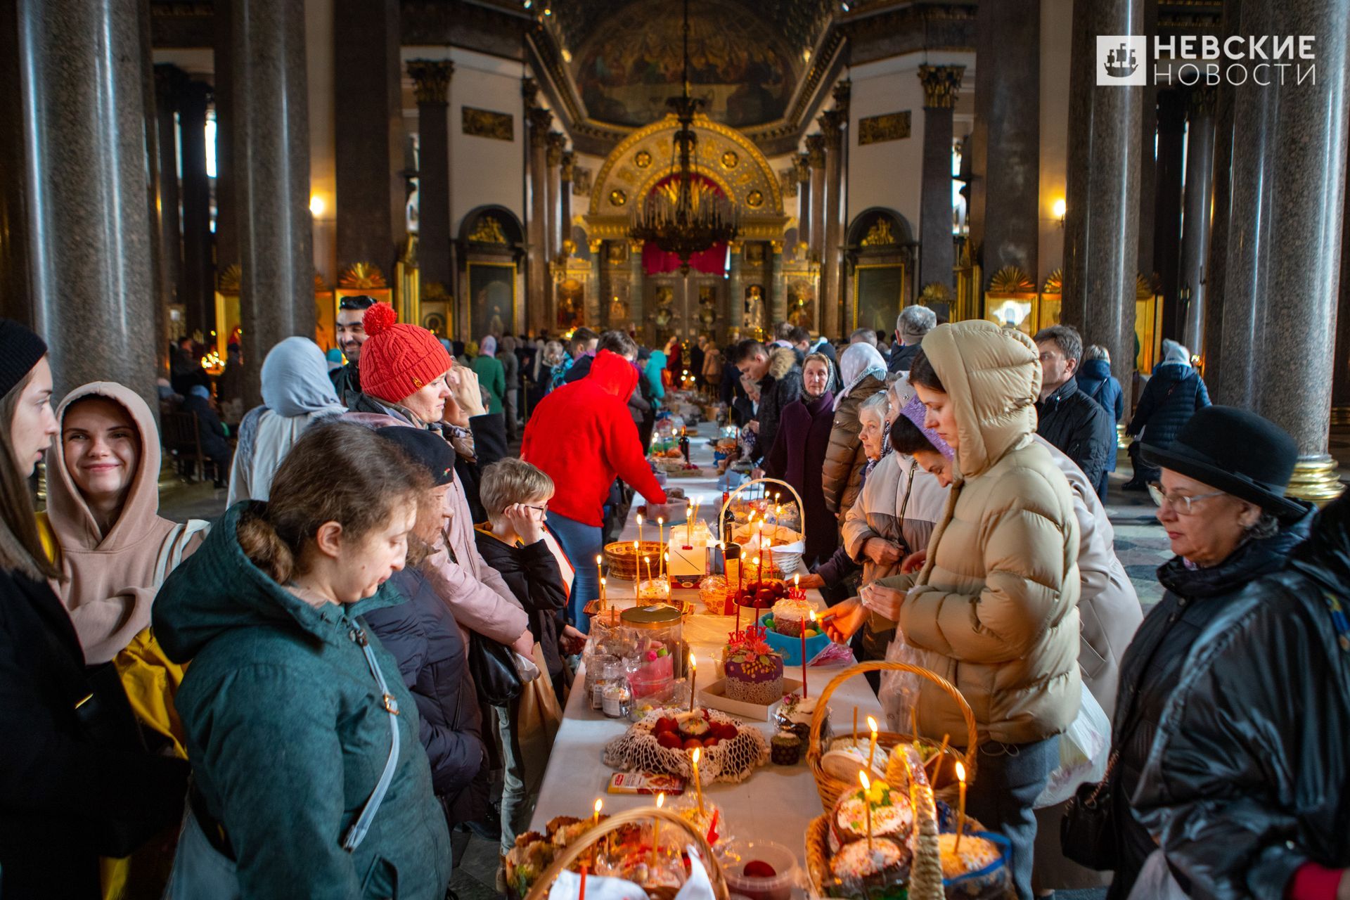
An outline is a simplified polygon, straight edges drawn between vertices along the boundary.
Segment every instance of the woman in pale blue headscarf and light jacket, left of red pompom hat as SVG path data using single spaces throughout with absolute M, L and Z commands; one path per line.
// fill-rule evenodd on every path
M 228 506 L 267 499 L 273 474 L 304 430 L 347 412 L 328 378 L 324 351 L 308 337 L 288 337 L 269 351 L 262 363 L 262 403 L 239 424 Z

